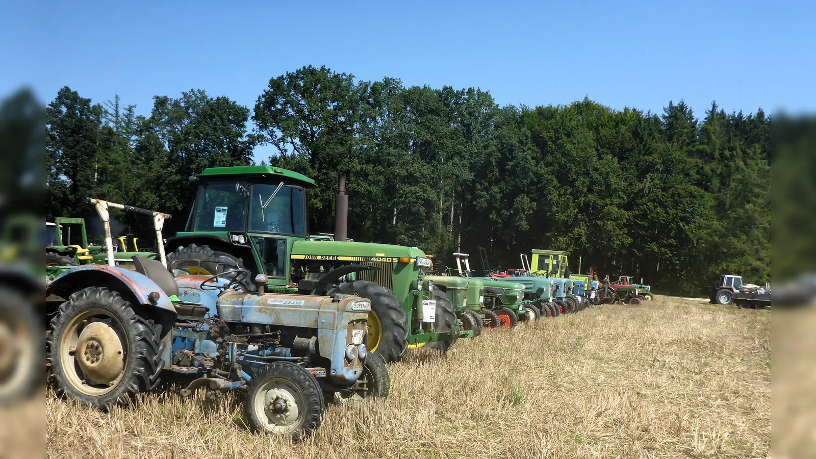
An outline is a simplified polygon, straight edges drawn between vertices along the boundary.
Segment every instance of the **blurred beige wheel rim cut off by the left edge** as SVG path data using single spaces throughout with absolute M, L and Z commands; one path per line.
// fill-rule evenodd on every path
M 0 317 L 0 399 L 6 399 L 24 384 L 35 358 L 31 330 L 18 314 Z

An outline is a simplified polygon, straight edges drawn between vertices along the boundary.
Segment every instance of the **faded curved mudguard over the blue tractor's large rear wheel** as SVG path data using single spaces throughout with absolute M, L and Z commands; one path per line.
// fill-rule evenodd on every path
M 46 297 L 56 295 L 68 299 L 87 287 L 106 287 L 119 292 L 131 305 L 153 312 L 154 320 L 162 324 L 162 337 L 170 332 L 178 317 L 170 298 L 157 283 L 144 274 L 109 265 L 82 265 L 65 271 L 48 283 Z M 153 292 L 158 294 L 155 301 L 150 299 Z M 55 310 L 47 310 L 47 313 L 53 312 Z

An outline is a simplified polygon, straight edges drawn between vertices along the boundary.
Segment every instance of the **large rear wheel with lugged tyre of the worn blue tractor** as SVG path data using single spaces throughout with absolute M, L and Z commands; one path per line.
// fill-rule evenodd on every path
M 107 411 L 153 390 L 164 369 L 162 326 L 118 292 L 87 287 L 51 319 L 47 361 L 58 394 Z

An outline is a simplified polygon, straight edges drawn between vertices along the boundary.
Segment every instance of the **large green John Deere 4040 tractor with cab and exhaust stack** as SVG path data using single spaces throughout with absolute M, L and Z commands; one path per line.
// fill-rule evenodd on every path
M 368 298 L 372 352 L 387 362 L 428 343 L 446 352 L 460 336 L 460 323 L 446 293 L 424 279 L 431 259 L 414 247 L 349 242 L 344 180 L 335 233 L 313 238 L 306 203 L 314 180 L 280 167 L 206 168 L 190 177 L 197 194 L 186 230 L 167 239 L 168 268 L 190 274 L 246 268 L 248 279 L 265 274 L 270 292 Z M 249 282 L 243 287 L 255 289 Z

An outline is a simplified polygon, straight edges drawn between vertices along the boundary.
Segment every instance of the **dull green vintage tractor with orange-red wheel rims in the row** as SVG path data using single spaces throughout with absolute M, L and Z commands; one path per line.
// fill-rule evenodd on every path
M 488 328 L 516 328 L 519 322 L 538 320 L 544 313 L 537 305 L 525 303 L 524 286 L 515 280 L 504 281 L 486 276 L 477 277 L 470 269 L 470 256 L 467 253 L 454 253 L 456 268 L 448 268 L 449 276 L 461 276 L 467 279 L 478 279 L 485 284 L 483 310 L 481 315 Z

